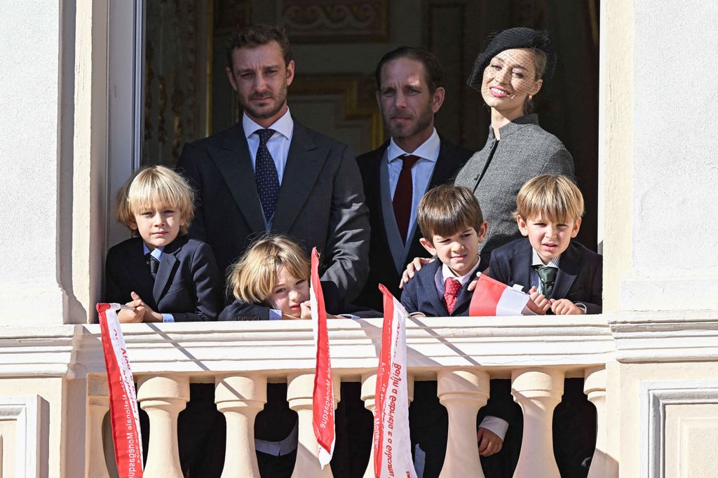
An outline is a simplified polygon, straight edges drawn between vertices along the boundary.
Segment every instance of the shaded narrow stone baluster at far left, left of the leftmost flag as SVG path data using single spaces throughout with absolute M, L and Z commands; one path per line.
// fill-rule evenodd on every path
M 109 410 L 110 399 L 106 376 L 90 375 L 88 377 L 88 426 L 85 429 L 85 477 L 110 478 L 102 433 L 103 421 Z

